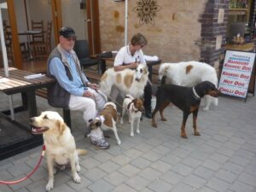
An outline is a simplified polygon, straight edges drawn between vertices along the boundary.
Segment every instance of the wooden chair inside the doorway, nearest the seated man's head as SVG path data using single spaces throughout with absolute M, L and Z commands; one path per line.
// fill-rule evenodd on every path
M 35 59 L 47 58 L 51 51 L 51 29 L 52 29 L 52 21 L 49 20 L 47 22 L 47 29 L 45 32 L 45 41 L 37 42 L 32 44 L 32 56 Z

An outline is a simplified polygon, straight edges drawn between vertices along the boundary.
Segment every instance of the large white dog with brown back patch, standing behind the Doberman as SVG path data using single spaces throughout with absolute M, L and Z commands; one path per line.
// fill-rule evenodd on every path
M 159 78 L 166 76 L 166 81 L 181 86 L 195 86 L 202 81 L 210 81 L 218 87 L 216 70 L 204 62 L 185 61 L 179 63 L 162 63 L 159 69 Z M 211 103 L 218 106 L 218 98 L 205 96 L 204 110 L 209 110 Z

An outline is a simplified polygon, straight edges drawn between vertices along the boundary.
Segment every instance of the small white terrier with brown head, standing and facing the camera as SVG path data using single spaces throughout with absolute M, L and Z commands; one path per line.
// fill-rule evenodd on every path
M 142 117 L 143 111 L 143 100 L 142 99 L 135 99 L 131 95 L 126 95 L 125 100 L 123 102 L 123 112 L 121 117 L 121 124 L 124 124 L 123 117 L 125 115 L 125 111 L 129 113 L 129 123 L 131 123 L 131 133 L 130 136 L 134 137 L 133 132 L 133 123 L 137 119 L 137 134 L 140 133 L 140 121 Z

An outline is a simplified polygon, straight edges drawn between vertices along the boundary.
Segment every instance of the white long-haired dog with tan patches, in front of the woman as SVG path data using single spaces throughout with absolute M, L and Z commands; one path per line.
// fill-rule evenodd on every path
M 115 72 L 113 68 L 109 68 L 102 75 L 100 88 L 110 96 L 113 84 L 119 90 L 126 94 L 130 94 L 135 98 L 143 96 L 144 87 L 148 81 L 148 67 L 145 64 L 139 64 L 136 70 L 125 69 L 120 72 Z

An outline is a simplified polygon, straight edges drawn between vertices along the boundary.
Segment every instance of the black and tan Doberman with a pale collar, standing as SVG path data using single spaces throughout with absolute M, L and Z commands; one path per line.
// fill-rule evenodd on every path
M 196 127 L 197 113 L 201 97 L 210 95 L 217 97 L 219 90 L 209 81 L 203 81 L 195 87 L 183 87 L 175 84 L 161 84 L 156 91 L 156 105 L 152 113 L 151 125 L 157 127 L 154 116 L 160 111 L 162 121 L 166 121 L 163 115 L 165 108 L 172 102 L 177 108 L 183 111 L 183 123 L 181 125 L 181 137 L 187 138 L 185 125 L 190 113 L 193 113 L 193 127 L 195 136 L 200 136 Z

